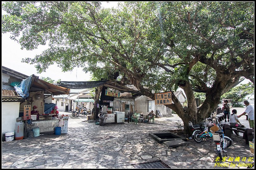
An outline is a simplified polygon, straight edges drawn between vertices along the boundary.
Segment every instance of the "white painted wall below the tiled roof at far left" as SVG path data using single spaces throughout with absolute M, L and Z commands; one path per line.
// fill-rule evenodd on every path
M 2 102 L 2 135 L 15 131 L 16 118 L 19 117 L 20 102 Z

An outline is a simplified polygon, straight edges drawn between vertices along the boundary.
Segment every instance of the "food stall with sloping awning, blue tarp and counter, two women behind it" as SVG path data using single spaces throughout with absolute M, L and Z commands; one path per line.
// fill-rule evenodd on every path
M 50 94 L 50 96 L 69 94 L 70 89 L 48 83 L 33 74 L 23 80 L 21 85 L 15 87 L 15 90 L 27 100 L 27 102 L 21 103 L 20 105 L 21 108 L 24 106 L 24 111 L 20 110 L 20 112 L 24 112 L 23 120 L 27 124 L 31 124 L 31 126 L 25 126 L 25 133 L 27 133 L 26 130 L 28 127 L 29 129 L 39 128 L 40 134 L 54 134 L 55 128 L 59 127 L 60 118 L 52 117 L 50 113 L 52 108 L 47 108 L 48 110 L 45 112 L 44 94 Z M 25 106 L 29 106 L 30 108 L 26 110 Z M 30 119 L 30 111 L 33 106 L 38 107 L 37 111 L 39 111 L 40 115 L 31 115 L 32 119 Z M 52 106 L 54 107 L 55 104 Z M 24 136 L 26 135 L 25 133 Z

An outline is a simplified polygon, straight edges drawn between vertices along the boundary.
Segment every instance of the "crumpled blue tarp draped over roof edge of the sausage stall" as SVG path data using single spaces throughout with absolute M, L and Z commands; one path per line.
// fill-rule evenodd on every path
M 32 82 L 32 76 L 29 76 L 27 79 L 22 80 L 20 85 L 15 86 L 17 93 L 24 99 L 29 97 L 29 89 Z

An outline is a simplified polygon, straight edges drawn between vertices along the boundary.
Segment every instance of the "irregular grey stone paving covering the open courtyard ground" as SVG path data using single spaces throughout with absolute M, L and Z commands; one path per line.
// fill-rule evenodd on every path
M 249 158 L 253 158 L 254 163 L 254 155 L 241 139 L 241 133 L 241 136 L 231 136 L 234 142 L 227 148 L 225 162 L 215 162 L 217 154 L 212 139 L 199 144 L 188 140 L 189 145 L 169 149 L 149 136 L 161 129 L 177 129 L 177 119 L 179 117 L 156 118 L 155 123 L 99 126 L 83 122 L 85 117 L 72 117 L 67 134 L 2 142 L 2 168 L 133 168 L 132 164 L 158 160 L 171 168 L 232 168 L 231 163 L 236 164 L 236 168 L 245 168 L 238 165 L 252 163 Z M 238 156 L 239 162 L 235 161 Z M 232 158 L 233 161 L 228 160 Z

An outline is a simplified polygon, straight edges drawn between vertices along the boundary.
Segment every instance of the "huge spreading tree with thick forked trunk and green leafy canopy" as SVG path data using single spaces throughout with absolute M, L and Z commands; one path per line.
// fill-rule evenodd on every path
M 186 111 L 174 95 L 167 107 L 185 130 L 241 78 L 254 83 L 254 2 L 5 2 L 2 9 L 2 33 L 27 50 L 49 45 L 23 59 L 38 72 L 53 63 L 63 71 L 84 67 L 96 78 L 119 72 L 152 99 L 152 90 L 182 88 Z M 199 109 L 194 91 L 206 93 Z

